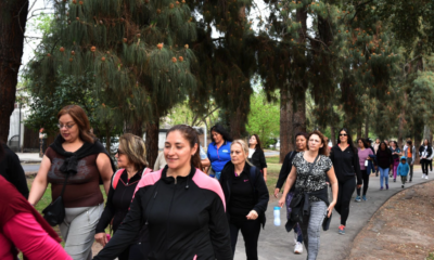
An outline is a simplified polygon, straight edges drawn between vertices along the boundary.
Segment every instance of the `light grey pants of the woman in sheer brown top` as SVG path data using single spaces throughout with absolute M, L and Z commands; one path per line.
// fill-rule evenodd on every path
M 92 259 L 95 227 L 104 205 L 94 207 L 65 208 L 65 220 L 60 224 L 65 242 L 65 251 L 74 260 Z

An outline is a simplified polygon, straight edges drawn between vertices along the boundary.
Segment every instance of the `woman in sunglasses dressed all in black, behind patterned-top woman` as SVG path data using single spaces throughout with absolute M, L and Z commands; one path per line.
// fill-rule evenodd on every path
M 347 129 L 343 128 L 339 131 L 337 145 L 332 147 L 330 159 L 339 184 L 337 203 L 334 207 L 341 214 L 339 233 L 344 235 L 349 214 L 349 202 L 356 190 L 355 177 L 357 177 L 357 187 L 360 188 L 362 184 L 358 152 L 353 145 L 353 139 Z

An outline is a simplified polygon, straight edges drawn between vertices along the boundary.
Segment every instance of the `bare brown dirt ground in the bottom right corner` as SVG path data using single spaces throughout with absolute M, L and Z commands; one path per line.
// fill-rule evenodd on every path
M 434 182 L 387 200 L 357 235 L 348 259 L 434 259 Z

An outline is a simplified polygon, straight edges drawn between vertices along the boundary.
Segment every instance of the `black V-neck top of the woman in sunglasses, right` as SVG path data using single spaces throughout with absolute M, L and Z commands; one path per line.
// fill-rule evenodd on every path
M 334 173 L 339 182 L 345 182 L 354 176 L 357 177 L 357 185 L 362 184 L 359 155 L 354 147 L 348 146 L 342 151 L 336 144 L 332 147 L 330 159 L 333 162 Z

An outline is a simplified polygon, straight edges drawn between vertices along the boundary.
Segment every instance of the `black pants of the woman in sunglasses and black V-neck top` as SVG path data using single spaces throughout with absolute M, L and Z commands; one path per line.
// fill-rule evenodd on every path
M 344 182 L 337 181 L 337 202 L 334 208 L 337 213 L 341 214 L 341 224 L 346 225 L 346 220 L 349 214 L 349 202 L 352 200 L 353 193 L 356 190 L 356 180 L 355 178 L 352 178 Z

